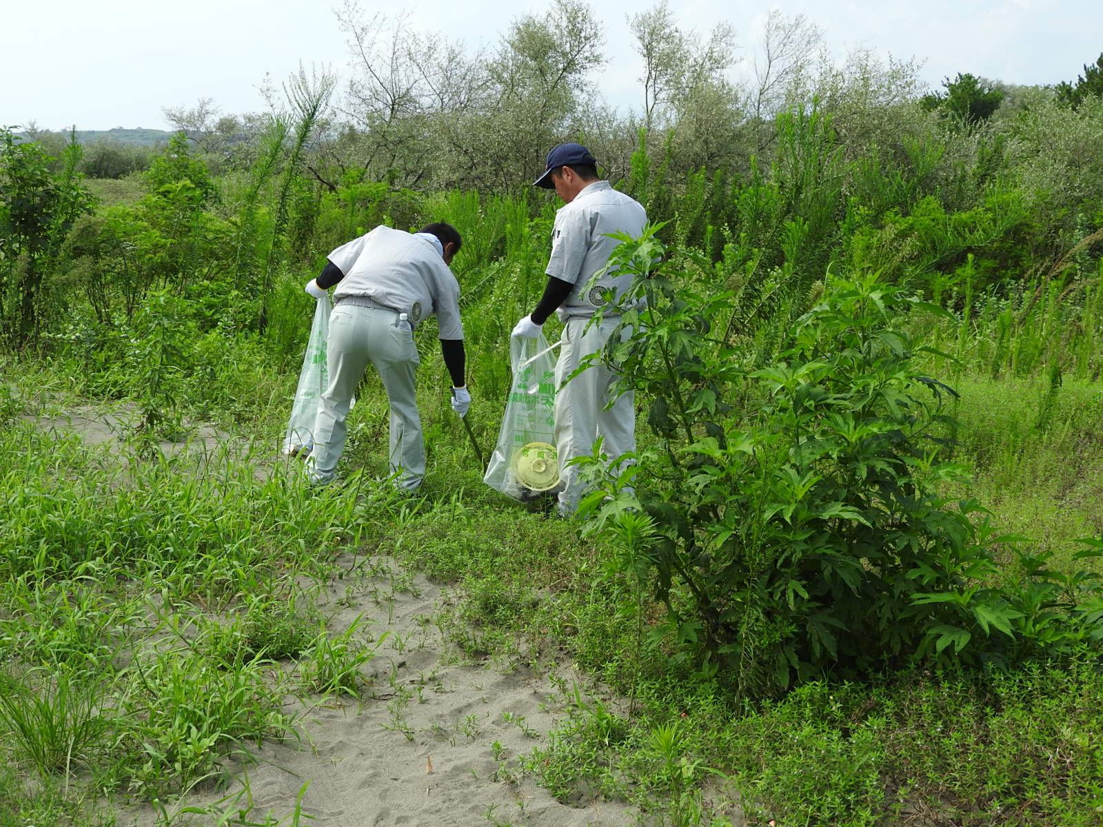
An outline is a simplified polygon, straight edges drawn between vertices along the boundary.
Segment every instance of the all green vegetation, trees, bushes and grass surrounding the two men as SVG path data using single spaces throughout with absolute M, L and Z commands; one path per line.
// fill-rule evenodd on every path
M 339 17 L 343 94 L 303 69 L 270 115 L 169 110 L 150 151 L 0 130 L 0 824 L 110 825 L 128 797 L 169 824 L 291 734 L 288 695 L 366 692 L 379 641 L 315 606 L 343 549 L 457 583 L 439 623 L 470 656 L 550 668 L 552 642 L 631 698 L 567 690 L 516 762 L 565 801 L 1103 821 L 1100 69 L 923 94 L 914 65 L 837 63 L 772 13 L 737 84 L 735 33 L 660 3 L 630 21 L 642 109 L 620 115 L 578 0 L 479 53 Z M 470 440 L 496 439 L 557 206 L 528 182 L 567 139 L 655 224 L 618 253 L 635 335 L 593 356 L 635 389 L 640 449 L 583 462 L 586 519 L 556 523 L 482 485 Z M 379 482 L 373 377 L 346 483 L 311 493 L 271 460 L 302 284 L 430 221 L 464 238 L 470 434 L 424 325 L 425 494 Z M 130 418 L 106 447 L 40 425 L 108 402 Z M 254 448 L 163 450 L 203 421 Z

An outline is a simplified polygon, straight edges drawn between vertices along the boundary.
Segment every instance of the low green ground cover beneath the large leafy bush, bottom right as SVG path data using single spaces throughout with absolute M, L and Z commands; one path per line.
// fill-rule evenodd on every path
M 1100 689 L 1085 653 L 983 681 L 816 680 L 754 706 L 672 680 L 631 718 L 576 691 L 524 765 L 560 801 L 628 797 L 671 824 L 1088 827 L 1103 812 Z

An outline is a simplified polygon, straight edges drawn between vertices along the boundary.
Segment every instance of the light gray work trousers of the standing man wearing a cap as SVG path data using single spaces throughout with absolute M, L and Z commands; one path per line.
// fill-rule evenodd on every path
M 620 319 L 607 319 L 590 325 L 589 319 L 571 319 L 564 325 L 563 345 L 556 363 L 555 443 L 559 459 L 559 513 L 571 515 L 586 493 L 578 479 L 578 466 L 567 463 L 576 457 L 587 457 L 593 442 L 602 437 L 601 451 L 611 460 L 635 450 L 635 394 L 622 394 L 606 409 L 610 386 L 618 374 L 604 365 L 593 365 L 563 385 L 578 368 L 582 357 L 606 346 Z M 585 331 L 585 332 L 583 332 Z

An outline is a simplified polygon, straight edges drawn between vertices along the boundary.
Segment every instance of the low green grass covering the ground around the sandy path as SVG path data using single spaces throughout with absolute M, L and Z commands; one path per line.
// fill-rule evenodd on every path
M 499 321 L 472 325 L 488 361 Z M 452 584 L 437 622 L 471 656 L 553 674 L 566 659 L 634 692 L 632 711 L 563 684 L 560 729 L 501 756 L 503 777 L 527 774 L 564 801 L 628 799 L 644 823 L 714 827 L 1103 820 L 1093 656 L 987 678 L 823 680 L 737 706 L 650 638 L 658 614 L 636 614 L 636 584 L 607 565 L 613 549 L 482 484 L 431 348 L 419 385 L 429 473 L 413 500 L 373 480 L 386 445 L 374 376 L 350 421 L 345 485 L 312 495 L 277 454 L 293 377 L 223 356 L 190 412 L 238 439 L 202 460 L 43 432 L 21 417 L 86 401 L 86 388 L 64 363 L 0 364 L 0 823 L 109 824 L 95 815 L 106 802 L 165 801 L 289 737 L 287 694 L 358 694 L 381 641 L 328 629 L 312 598 L 347 550 Z M 485 452 L 497 414 L 482 382 L 471 422 Z M 1071 378 L 1053 390 L 1045 375 L 963 370 L 951 384 L 954 459 L 976 480 L 946 493 L 978 496 L 1071 565 L 1073 540 L 1103 526 L 1103 396 Z

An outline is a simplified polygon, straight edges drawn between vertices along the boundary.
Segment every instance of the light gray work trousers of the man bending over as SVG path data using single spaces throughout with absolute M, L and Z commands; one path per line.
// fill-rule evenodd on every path
M 314 449 L 308 460 L 312 482 L 325 484 L 335 476 L 349 406 L 371 362 L 390 404 L 390 473 L 397 473 L 399 487 L 415 491 L 425 476 L 425 443 L 414 395 L 419 358 L 410 323 L 392 310 L 338 304 L 330 315 L 326 346 L 330 384 L 314 420 Z

